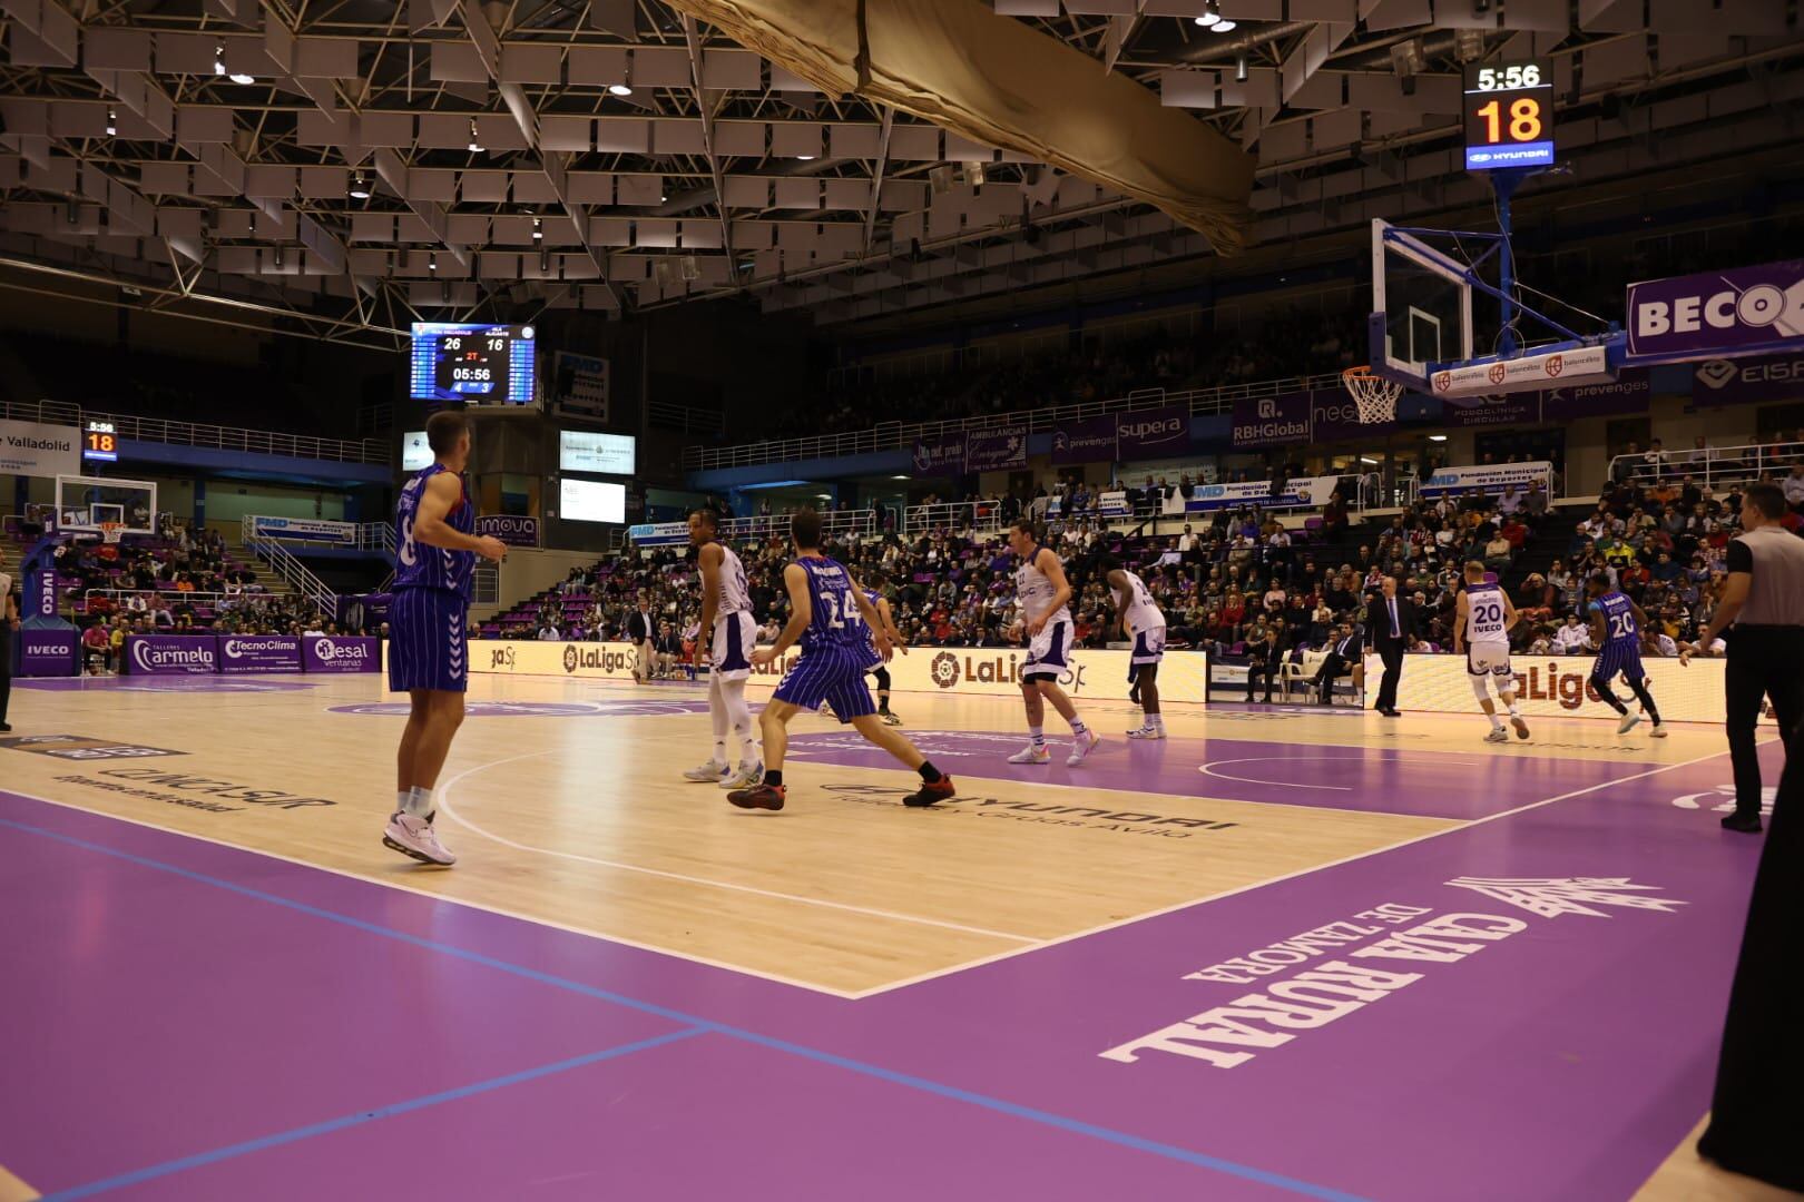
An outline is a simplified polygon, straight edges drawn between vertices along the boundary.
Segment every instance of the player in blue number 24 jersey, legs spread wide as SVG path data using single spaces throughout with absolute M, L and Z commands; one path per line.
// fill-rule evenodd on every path
M 799 710 L 832 703 L 841 724 L 853 726 L 871 744 L 889 751 L 920 773 L 918 791 L 902 798 L 904 806 L 933 806 L 954 797 L 953 779 L 927 762 L 913 742 L 884 726 L 864 687 L 871 649 L 889 658 L 889 633 L 870 596 L 851 578 L 844 564 L 821 553 L 821 515 L 799 510 L 790 517 L 796 560 L 783 569 L 788 589 L 788 625 L 770 647 L 752 652 L 763 667 L 801 643 L 801 658 L 783 674 L 783 683 L 758 715 L 765 742 L 765 780 L 750 789 L 734 789 L 727 800 L 740 809 L 783 809 L 783 753 L 788 750 L 788 721 Z

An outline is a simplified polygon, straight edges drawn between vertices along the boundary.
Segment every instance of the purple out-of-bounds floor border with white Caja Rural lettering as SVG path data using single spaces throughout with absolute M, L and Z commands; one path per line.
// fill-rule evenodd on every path
M 1627 1198 L 1708 1105 L 1759 854 L 1676 804 L 1726 757 L 1643 773 L 862 1000 L 0 793 L 0 1164 L 184 1202 Z

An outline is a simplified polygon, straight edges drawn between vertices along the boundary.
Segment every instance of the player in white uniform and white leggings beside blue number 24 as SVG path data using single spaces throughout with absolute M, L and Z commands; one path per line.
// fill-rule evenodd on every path
M 707 656 L 707 714 L 714 723 L 714 753 L 705 764 L 686 771 L 684 779 L 714 780 L 723 789 L 749 789 L 765 779 L 758 742 L 752 739 L 752 706 L 745 703 L 758 624 L 752 620 L 745 564 L 732 548 L 716 541 L 718 532 L 720 517 L 714 510 L 689 514 L 689 542 L 696 548 L 695 562 L 702 569 L 702 622 L 695 661 L 702 663 Z M 729 732 L 738 746 L 736 760 L 727 757 Z

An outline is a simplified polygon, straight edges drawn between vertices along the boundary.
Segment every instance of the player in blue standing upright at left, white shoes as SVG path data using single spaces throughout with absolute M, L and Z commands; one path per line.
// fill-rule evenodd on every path
M 464 723 L 469 611 L 476 557 L 502 559 L 507 544 L 476 537 L 476 506 L 464 492 L 469 418 L 435 413 L 426 422 L 433 465 L 395 503 L 395 600 L 388 609 L 388 687 L 408 694 L 411 710 L 395 757 L 395 815 L 382 843 L 422 863 L 453 865 L 433 831 L 433 786 Z

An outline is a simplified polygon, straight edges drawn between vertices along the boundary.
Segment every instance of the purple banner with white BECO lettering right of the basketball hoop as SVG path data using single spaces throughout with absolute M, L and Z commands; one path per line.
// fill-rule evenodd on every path
M 1804 337 L 1804 260 L 1629 285 L 1629 357 L 1734 355 Z

